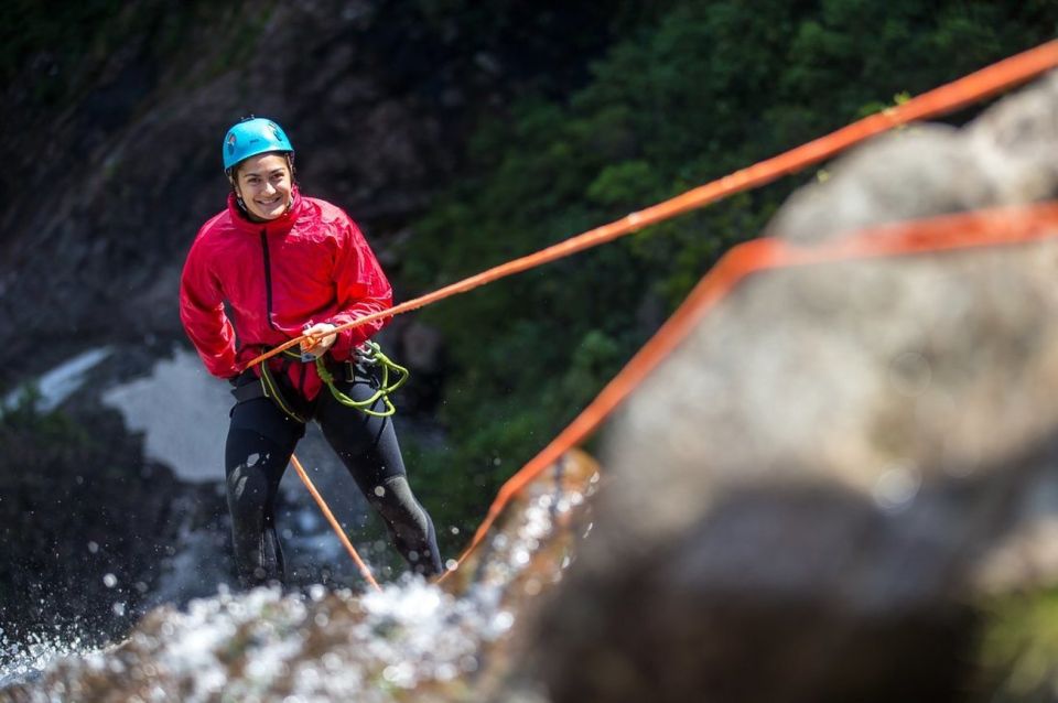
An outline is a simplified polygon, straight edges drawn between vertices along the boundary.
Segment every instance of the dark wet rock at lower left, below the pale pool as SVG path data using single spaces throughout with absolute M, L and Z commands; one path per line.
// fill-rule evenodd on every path
M 17 411 L 0 428 L 9 465 L 0 472 L 0 670 L 19 656 L 9 641 L 22 650 L 34 640 L 99 645 L 156 605 L 166 585 L 183 601 L 235 583 L 222 491 L 144 461 L 139 439 L 104 408 L 23 420 Z M 187 582 L 174 583 L 186 539 L 199 536 L 214 542 Z

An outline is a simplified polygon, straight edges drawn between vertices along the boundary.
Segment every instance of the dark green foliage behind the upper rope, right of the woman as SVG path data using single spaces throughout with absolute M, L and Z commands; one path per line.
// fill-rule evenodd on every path
M 665 8 L 565 100 L 526 97 L 479 126 L 469 175 L 415 224 L 409 283 L 432 290 L 612 221 L 1041 43 L 1058 25 L 1058 7 L 1044 2 Z M 438 458 L 445 480 L 495 474 L 474 479 L 484 489 L 546 445 L 810 175 L 425 311 L 455 364 L 441 410 L 453 442 Z

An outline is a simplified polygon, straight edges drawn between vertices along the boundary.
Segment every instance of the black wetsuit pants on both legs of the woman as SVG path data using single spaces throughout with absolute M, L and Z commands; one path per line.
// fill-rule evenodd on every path
M 237 385 L 260 382 L 252 372 Z M 370 378 L 358 372 L 338 388 L 354 400 L 375 392 Z M 377 402 L 375 410 L 381 407 Z M 325 387 L 314 401 L 313 415 L 327 443 L 389 529 L 397 550 L 415 573 L 440 573 L 433 522 L 408 485 L 404 463 L 390 418 L 375 418 L 341 404 Z M 235 562 L 244 587 L 284 583 L 283 552 L 276 530 L 279 483 L 305 425 L 282 412 L 272 400 L 255 398 L 231 410 L 225 447 L 228 508 Z

